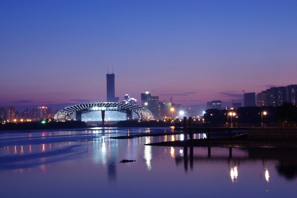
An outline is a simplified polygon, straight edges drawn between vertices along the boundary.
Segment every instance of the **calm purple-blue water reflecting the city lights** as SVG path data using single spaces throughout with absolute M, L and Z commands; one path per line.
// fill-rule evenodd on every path
M 160 131 L 167 135 L 109 138 Z M 184 138 L 171 132 L 95 128 L 0 134 L 0 197 L 296 197 L 297 149 L 143 145 Z

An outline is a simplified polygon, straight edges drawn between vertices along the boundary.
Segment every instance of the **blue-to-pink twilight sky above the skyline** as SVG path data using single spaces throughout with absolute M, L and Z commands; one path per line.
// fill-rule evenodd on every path
M 297 83 L 297 1 L 0 1 L 0 26 L 0 106 L 104 101 L 107 66 L 138 102 Z

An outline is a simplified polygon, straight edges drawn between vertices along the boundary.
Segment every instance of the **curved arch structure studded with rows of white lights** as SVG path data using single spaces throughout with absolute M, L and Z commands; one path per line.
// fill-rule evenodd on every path
M 102 123 L 104 123 L 105 111 L 118 111 L 126 113 L 127 120 L 130 118 L 132 119 L 133 112 L 138 115 L 139 119 L 154 119 L 154 115 L 150 110 L 136 104 L 122 102 L 92 102 L 76 104 L 61 109 L 55 114 L 54 118 L 56 120 L 65 120 L 75 116 L 76 120 L 81 120 L 81 114 L 92 111 L 101 111 Z

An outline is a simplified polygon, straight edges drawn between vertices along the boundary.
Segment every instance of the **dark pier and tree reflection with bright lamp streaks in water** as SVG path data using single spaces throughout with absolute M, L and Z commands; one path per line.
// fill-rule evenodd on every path
M 207 152 L 201 152 L 201 150 L 207 149 Z M 228 150 L 227 150 L 228 149 Z M 190 167 L 193 167 L 193 162 L 201 163 L 201 161 L 225 161 L 228 165 L 233 165 L 230 167 L 230 177 L 232 182 L 237 181 L 238 168 L 240 164 L 261 160 L 263 165 L 269 161 L 277 161 L 276 170 L 279 175 L 285 176 L 287 179 L 297 178 L 297 159 L 295 155 L 297 154 L 297 148 L 257 148 L 241 151 L 241 155 L 236 156 L 233 154 L 233 149 L 230 148 L 196 148 L 198 153 L 193 152 L 193 147 L 190 147 L 190 153 L 188 156 L 188 148 L 184 147 L 184 150 L 180 149 L 180 155 L 175 158 L 176 164 L 183 161 L 184 170 L 188 170 L 188 161 L 190 159 Z M 216 151 L 213 154 L 213 151 Z M 222 152 L 226 150 L 225 152 Z M 220 152 L 218 152 L 220 151 Z M 229 151 L 229 152 L 228 152 Z M 206 155 L 207 154 L 207 155 Z M 206 157 L 207 156 L 207 157 Z M 262 173 L 263 174 L 263 173 Z M 269 182 L 270 176 L 268 168 L 265 168 L 264 172 L 266 182 Z

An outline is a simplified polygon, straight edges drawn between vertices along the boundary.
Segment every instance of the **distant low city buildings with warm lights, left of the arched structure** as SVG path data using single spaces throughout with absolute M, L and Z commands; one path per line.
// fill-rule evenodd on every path
M 26 108 L 22 112 L 18 112 L 14 107 L 0 107 L 0 119 L 2 121 L 39 121 L 42 119 L 50 119 L 54 117 L 53 110 L 48 107 L 37 107 L 37 109 Z

